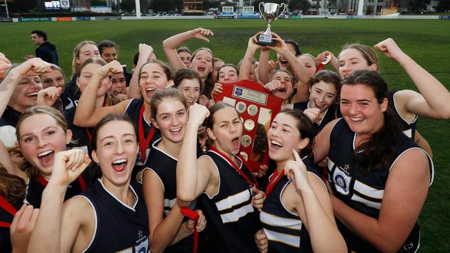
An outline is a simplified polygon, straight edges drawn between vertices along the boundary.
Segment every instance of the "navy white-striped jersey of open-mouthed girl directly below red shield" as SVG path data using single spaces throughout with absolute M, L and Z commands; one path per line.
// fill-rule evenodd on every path
M 251 205 L 252 191 L 249 182 L 218 153 L 208 151 L 205 156 L 213 160 L 219 174 L 217 193 L 214 196 L 204 193 L 198 199 L 199 207 L 208 221 L 206 234 L 211 250 L 258 252 L 254 236 L 261 227 L 258 210 Z M 248 178 L 253 178 L 242 161 L 240 169 Z

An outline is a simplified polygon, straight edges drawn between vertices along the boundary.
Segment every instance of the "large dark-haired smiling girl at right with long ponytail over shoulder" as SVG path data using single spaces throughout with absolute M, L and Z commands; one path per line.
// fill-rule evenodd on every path
M 337 225 L 354 252 L 416 252 L 417 218 L 433 182 L 433 162 L 388 109 L 386 82 L 355 71 L 341 87 L 341 113 L 316 136 Z M 414 168 L 414 169 L 411 169 Z

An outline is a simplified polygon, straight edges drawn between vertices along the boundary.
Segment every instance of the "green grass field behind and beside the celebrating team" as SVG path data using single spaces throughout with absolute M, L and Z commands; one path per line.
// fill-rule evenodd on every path
M 147 20 L 147 21 L 79 21 L 0 24 L 0 51 L 12 62 L 21 62 L 24 55 L 34 54 L 30 31 L 48 33 L 57 45 L 60 64 L 70 75 L 73 47 L 83 39 L 111 39 L 120 47 L 119 61 L 132 66 L 132 57 L 139 43 L 151 44 L 161 59 L 163 39 L 178 32 L 203 27 L 213 30 L 210 44 L 188 41 L 191 49 L 208 46 L 225 62 L 237 64 L 243 57 L 246 41 L 259 30 L 262 20 Z M 450 88 L 450 21 L 449 20 L 348 20 L 292 19 L 278 20 L 272 30 L 285 39 L 294 39 L 303 53 L 316 55 L 323 50 L 339 53 L 343 44 L 359 42 L 374 45 L 392 37 L 416 62 Z M 379 55 L 379 70 L 392 89 L 415 89 L 413 82 L 399 64 Z M 449 101 L 450 102 L 450 101 Z M 433 149 L 435 178 L 420 216 L 422 245 L 420 252 L 450 252 L 450 121 L 420 118 L 417 129 Z M 414 168 L 411 168 L 414 169 Z M 447 197 L 446 197 L 447 196 Z M 407 207 L 406 207 L 407 208 Z

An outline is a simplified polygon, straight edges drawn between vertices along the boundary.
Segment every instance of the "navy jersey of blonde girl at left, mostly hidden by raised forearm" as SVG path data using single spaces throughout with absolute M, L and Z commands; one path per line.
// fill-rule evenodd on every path
M 83 181 L 85 183 L 89 182 L 89 180 L 85 180 L 84 178 L 83 178 Z M 25 202 L 30 205 L 33 205 L 33 207 L 35 207 L 35 208 L 40 208 L 42 192 L 44 192 L 44 189 L 45 189 L 45 186 L 42 185 L 42 183 L 39 182 L 39 180 L 30 179 L 30 182 L 28 183 L 28 186 L 26 187 Z M 66 191 L 66 195 L 64 196 L 64 200 L 68 200 L 69 198 L 72 198 L 73 196 L 80 194 L 81 191 L 82 191 L 82 187 L 80 185 L 80 180 L 77 179 L 77 180 L 71 182 L 71 184 L 67 187 L 67 191 Z

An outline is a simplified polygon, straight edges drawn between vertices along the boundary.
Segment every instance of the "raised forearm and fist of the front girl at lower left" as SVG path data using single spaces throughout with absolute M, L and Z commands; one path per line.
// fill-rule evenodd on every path
M 47 187 L 42 193 L 42 204 L 27 252 L 61 252 L 62 249 L 62 204 L 67 186 L 89 165 L 89 156 L 81 149 L 71 149 L 55 154 L 53 171 Z M 73 220 L 69 223 L 75 222 Z M 64 224 L 64 227 L 66 224 Z M 78 231 L 75 232 L 75 234 Z M 73 235 L 75 239 L 75 235 Z M 71 247 L 69 247 L 69 250 Z M 64 252 L 69 252 L 64 250 Z

